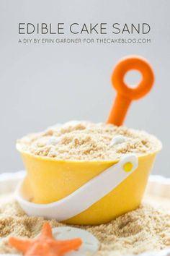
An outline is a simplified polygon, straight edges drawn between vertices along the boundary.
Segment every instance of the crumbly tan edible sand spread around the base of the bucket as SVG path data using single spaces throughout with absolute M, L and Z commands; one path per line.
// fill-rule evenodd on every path
M 16 253 L 9 236 L 33 238 L 40 233 L 45 218 L 28 217 L 11 195 L 0 197 L 0 253 Z M 50 220 L 53 227 L 66 226 Z M 99 226 L 79 226 L 99 239 L 98 256 L 138 255 L 170 247 L 170 200 L 146 196 L 140 207 L 114 221 Z M 19 253 L 19 252 L 17 252 Z

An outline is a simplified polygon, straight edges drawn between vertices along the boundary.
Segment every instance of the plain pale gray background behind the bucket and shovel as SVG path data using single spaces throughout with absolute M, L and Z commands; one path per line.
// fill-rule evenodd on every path
M 0 172 L 22 166 L 17 138 L 71 119 L 105 121 L 118 59 L 146 57 L 156 73 L 152 92 L 133 103 L 125 124 L 158 136 L 164 149 L 154 174 L 169 176 L 169 0 L 0 1 Z M 148 22 L 150 44 L 19 45 L 18 22 Z M 128 36 L 128 38 L 131 36 Z M 137 78 L 137 77 L 135 77 Z M 130 82 L 134 82 L 129 77 Z

